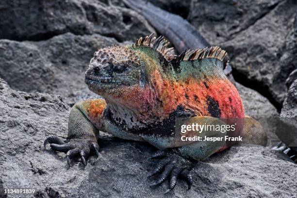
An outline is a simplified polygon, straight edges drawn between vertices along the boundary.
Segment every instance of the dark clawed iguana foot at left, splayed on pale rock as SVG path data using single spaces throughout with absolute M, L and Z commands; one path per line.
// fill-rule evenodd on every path
M 65 152 L 67 163 L 70 166 L 70 159 L 80 155 L 83 165 L 86 165 L 85 157 L 90 155 L 91 151 L 95 151 L 99 156 L 99 145 L 91 139 L 70 139 L 69 142 L 65 142 L 57 136 L 49 136 L 43 143 L 44 148 L 47 144 L 55 151 Z

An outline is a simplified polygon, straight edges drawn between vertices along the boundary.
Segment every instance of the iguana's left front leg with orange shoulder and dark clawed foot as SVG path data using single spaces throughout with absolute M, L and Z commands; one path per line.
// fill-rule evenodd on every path
M 91 151 L 99 155 L 99 145 L 97 142 L 98 130 L 104 131 L 102 121 L 103 111 L 106 102 L 103 99 L 85 100 L 76 103 L 69 115 L 68 138 L 65 142 L 57 136 L 49 136 L 44 141 L 44 146 L 50 144 L 53 150 L 65 152 L 68 165 L 70 159 L 80 155 L 82 163 L 86 165 L 85 157 Z

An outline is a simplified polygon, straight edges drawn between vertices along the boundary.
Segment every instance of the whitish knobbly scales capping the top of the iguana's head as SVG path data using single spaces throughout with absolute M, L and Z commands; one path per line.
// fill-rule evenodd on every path
M 94 58 L 101 64 L 135 64 L 139 65 L 138 57 L 135 53 L 124 46 L 112 46 L 99 49 L 95 52 Z

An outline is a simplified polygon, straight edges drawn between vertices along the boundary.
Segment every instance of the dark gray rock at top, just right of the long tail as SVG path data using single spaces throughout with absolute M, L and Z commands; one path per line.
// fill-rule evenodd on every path
M 210 43 L 220 44 L 244 32 L 282 0 L 192 0 L 189 21 Z

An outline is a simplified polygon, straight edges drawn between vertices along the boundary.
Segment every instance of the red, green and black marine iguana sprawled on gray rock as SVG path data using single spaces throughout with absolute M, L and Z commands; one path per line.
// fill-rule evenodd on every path
M 140 38 L 135 45 L 99 49 L 85 72 L 89 89 L 104 97 L 78 102 L 69 115 L 68 137 L 64 143 L 56 136 L 45 141 L 50 147 L 66 152 L 70 158 L 85 157 L 94 150 L 98 154 L 98 131 L 123 139 L 146 141 L 161 149 L 153 157 L 163 159 L 151 175 L 161 173 L 152 185 L 170 175 L 167 192 L 176 185 L 177 176 L 192 184 L 190 170 L 195 162 L 231 146 L 232 142 L 182 142 L 175 131 L 176 118 L 191 118 L 199 124 L 238 124 L 229 135 L 242 134 L 264 143 L 265 133 L 255 123 L 242 123 L 244 108 L 234 85 L 223 68 L 227 53 L 218 47 L 187 51 L 179 57 L 166 49 L 167 41 L 153 34 Z M 239 121 L 238 121 L 239 120 Z M 256 131 L 256 133 L 255 133 Z M 221 137 L 223 133 L 189 133 Z

